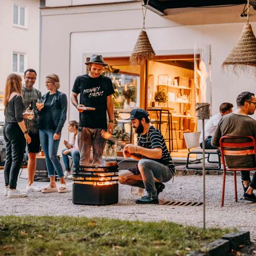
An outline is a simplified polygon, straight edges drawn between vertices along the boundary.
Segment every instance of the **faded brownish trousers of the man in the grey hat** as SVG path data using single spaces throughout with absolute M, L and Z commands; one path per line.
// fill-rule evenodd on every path
M 78 132 L 78 146 L 80 151 L 80 165 L 90 165 L 91 147 L 93 153 L 93 165 L 101 165 L 101 159 L 106 140 L 101 137 L 102 129 L 83 127 Z

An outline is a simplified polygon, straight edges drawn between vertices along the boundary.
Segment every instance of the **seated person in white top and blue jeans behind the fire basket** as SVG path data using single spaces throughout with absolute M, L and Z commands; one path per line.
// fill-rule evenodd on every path
M 78 122 L 75 120 L 68 122 L 68 130 L 69 132 L 73 133 L 72 141 L 69 143 L 66 140 L 63 140 L 63 144 L 66 148 L 62 150 L 62 159 L 65 165 L 65 178 L 69 178 L 68 176 L 71 175 L 70 165 L 69 165 L 69 158 L 71 156 L 73 159 L 74 165 L 79 165 L 80 161 L 80 151 L 78 148 Z M 72 176 L 71 176 L 72 177 Z

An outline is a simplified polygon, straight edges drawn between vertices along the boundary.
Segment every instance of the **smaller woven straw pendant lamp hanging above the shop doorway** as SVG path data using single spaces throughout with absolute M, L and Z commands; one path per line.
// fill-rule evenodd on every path
M 147 9 L 147 5 L 148 5 L 148 0 L 146 3 L 146 9 Z M 149 42 L 149 39 L 148 39 L 146 31 L 145 31 L 146 10 L 145 10 L 145 14 L 144 14 L 143 7 L 142 7 L 142 14 L 143 14 L 143 28 L 140 31 L 137 42 L 136 42 L 133 52 L 130 56 L 130 64 L 131 65 L 143 64 L 143 63 L 145 63 L 145 61 L 150 60 L 155 56 L 155 52 Z

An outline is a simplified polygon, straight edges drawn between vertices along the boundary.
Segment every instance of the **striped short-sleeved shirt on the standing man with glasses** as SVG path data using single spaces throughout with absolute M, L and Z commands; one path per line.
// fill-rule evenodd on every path
M 36 103 L 37 103 L 37 100 L 42 99 L 41 91 L 33 87 L 31 90 L 27 90 L 26 87 L 23 85 L 22 94 L 23 94 L 24 111 L 27 110 L 30 102 L 32 101 L 33 110 L 35 112 L 34 119 L 32 120 L 24 119 L 27 131 L 31 133 L 38 133 L 39 117 L 37 114 Z

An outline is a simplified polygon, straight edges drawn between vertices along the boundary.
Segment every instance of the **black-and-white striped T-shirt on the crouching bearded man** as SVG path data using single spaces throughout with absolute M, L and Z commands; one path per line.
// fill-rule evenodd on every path
M 163 165 L 167 165 L 171 172 L 175 173 L 174 162 L 165 144 L 165 138 L 159 129 L 154 126 L 150 126 L 146 134 L 138 134 L 137 139 L 138 146 L 145 148 L 162 148 L 162 156 L 160 159 L 151 159 Z

